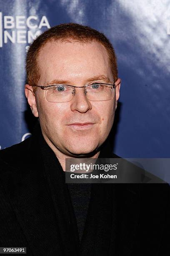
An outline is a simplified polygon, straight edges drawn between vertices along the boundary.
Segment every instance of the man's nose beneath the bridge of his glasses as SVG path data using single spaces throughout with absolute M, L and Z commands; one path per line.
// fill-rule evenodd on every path
M 71 100 L 70 108 L 72 111 L 78 111 L 80 113 L 86 113 L 92 109 L 92 105 L 84 93 L 84 87 L 75 88 L 75 95 Z

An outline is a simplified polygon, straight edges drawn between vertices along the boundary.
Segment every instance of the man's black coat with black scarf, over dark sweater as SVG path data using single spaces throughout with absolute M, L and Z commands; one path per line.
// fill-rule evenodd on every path
M 106 156 L 116 157 L 103 148 Z M 64 175 L 39 125 L 0 151 L 0 247 L 27 247 L 36 256 L 170 254 L 168 184 L 92 184 L 79 246 Z

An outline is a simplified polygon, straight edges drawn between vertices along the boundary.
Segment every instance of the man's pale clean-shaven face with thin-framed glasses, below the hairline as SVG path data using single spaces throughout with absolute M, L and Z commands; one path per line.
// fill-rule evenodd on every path
M 38 85 L 108 83 L 104 76 L 113 83 L 107 51 L 96 41 L 49 41 L 40 50 L 38 65 Z M 52 147 L 67 156 L 85 155 L 101 146 L 112 128 L 117 88 L 117 96 L 114 90 L 112 99 L 106 101 L 89 101 L 84 88 L 75 88 L 70 102 L 48 102 L 45 90 L 37 88 L 32 113 L 39 116 L 42 134 Z

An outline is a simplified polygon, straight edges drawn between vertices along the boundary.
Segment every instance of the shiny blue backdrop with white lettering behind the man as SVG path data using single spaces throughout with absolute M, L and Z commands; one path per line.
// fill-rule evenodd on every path
M 102 31 L 115 47 L 122 79 L 115 154 L 168 158 L 169 0 L 1 0 L 0 148 L 32 132 L 35 120 L 24 95 L 25 54 L 32 38 L 69 22 Z

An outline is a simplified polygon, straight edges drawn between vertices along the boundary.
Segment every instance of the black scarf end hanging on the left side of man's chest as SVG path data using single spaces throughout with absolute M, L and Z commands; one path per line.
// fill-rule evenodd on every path
M 65 183 L 65 172 L 63 172 L 54 152 L 42 137 L 40 138 L 40 148 L 64 255 L 76 256 L 79 253 L 79 237 L 70 193 Z

